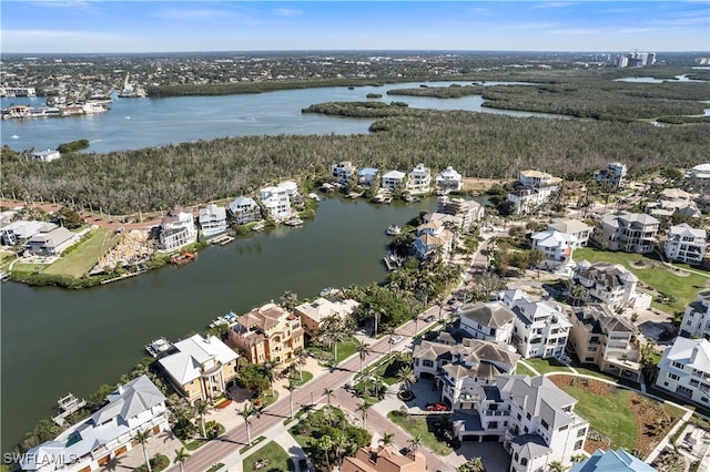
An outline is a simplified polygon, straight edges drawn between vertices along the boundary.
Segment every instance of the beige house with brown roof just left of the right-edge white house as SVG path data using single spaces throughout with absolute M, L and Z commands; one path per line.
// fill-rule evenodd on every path
M 604 305 L 574 307 L 570 319 L 569 347 L 581 363 L 641 381 L 641 335 L 630 319 L 612 314 Z

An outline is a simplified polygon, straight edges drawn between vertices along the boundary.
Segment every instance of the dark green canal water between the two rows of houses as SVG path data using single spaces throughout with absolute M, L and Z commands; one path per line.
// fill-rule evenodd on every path
M 313 297 L 324 287 L 383 280 L 387 226 L 435 206 L 436 198 L 381 206 L 325 198 L 301 228 L 210 247 L 180 268 L 77 291 L 3 284 L 2 451 L 67 392 L 84 397 L 116 382 L 155 338 L 175 341 L 285 290 Z

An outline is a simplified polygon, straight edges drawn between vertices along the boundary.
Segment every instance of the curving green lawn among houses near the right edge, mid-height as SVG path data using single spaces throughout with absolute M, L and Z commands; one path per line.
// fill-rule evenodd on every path
M 684 275 L 682 276 L 676 275 L 667 266 L 661 265 L 657 259 L 641 254 L 612 253 L 591 247 L 582 247 L 575 249 L 575 260 L 581 259 L 589 260 L 590 263 L 606 261 L 611 264 L 621 264 L 633 273 L 641 283 L 656 290 L 662 291 L 666 295 L 674 296 L 677 299 L 670 305 L 653 301 L 653 306 L 663 311 L 683 311 L 686 309 L 686 305 L 698 297 L 698 290 L 704 288 L 708 281 L 708 277 L 699 274 L 683 273 Z M 632 260 L 643 263 L 645 267 L 633 267 L 631 265 Z M 679 267 L 683 266 L 679 265 Z M 710 273 L 703 273 L 710 276 Z

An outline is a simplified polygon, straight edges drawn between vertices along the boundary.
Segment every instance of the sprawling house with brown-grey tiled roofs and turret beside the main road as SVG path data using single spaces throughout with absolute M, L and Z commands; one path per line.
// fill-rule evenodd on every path
M 442 401 L 453 409 L 475 407 L 475 389 L 491 384 L 504 373 L 515 373 L 520 356 L 505 342 L 464 338 L 453 346 L 422 341 L 414 348 L 414 374 L 433 379 L 442 391 Z

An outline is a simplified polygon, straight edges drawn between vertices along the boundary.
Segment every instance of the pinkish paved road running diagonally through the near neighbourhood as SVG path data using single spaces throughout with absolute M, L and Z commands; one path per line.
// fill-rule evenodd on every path
M 424 315 L 420 315 L 420 318 L 424 318 L 427 315 L 438 315 L 438 307 L 429 308 Z M 432 325 L 430 322 L 418 321 L 418 330 L 422 331 L 426 327 Z M 397 328 L 397 335 L 403 335 L 405 337 L 412 338 L 414 336 L 415 321 L 409 321 L 406 325 Z M 404 349 L 408 346 L 403 341 L 400 345 L 397 345 L 397 349 Z M 383 337 L 379 341 L 376 341 L 372 345 L 372 352 L 365 358 L 365 366 L 368 366 L 373 362 L 376 362 L 383 356 L 385 356 L 389 351 L 389 338 Z M 313 393 L 313 399 L 318 401 L 323 398 L 323 390 L 328 388 L 332 390 L 337 390 L 339 401 L 343 401 L 342 407 L 346 410 L 351 410 L 354 413 L 359 406 L 355 399 L 348 398 L 349 393 L 345 392 L 341 387 L 346 382 L 351 382 L 353 380 L 353 376 L 359 371 L 359 357 L 353 356 L 341 362 L 339 366 L 331 369 L 318 376 L 317 378 L 311 380 L 304 387 L 297 389 L 293 393 L 293 403 L 294 410 L 300 409 L 303 406 L 311 404 L 311 394 Z M 288 396 L 284 396 L 276 403 L 266 408 L 266 410 L 261 414 L 258 419 L 254 419 L 252 422 L 252 439 L 257 438 L 260 434 L 263 434 L 270 428 L 283 422 L 291 412 Z M 379 417 L 379 418 L 377 418 Z M 357 417 L 359 418 L 359 417 Z M 394 427 L 387 419 L 381 417 L 379 414 L 369 411 L 368 419 L 373 421 L 373 425 L 376 428 L 382 428 L 384 430 L 390 431 Z M 383 432 L 378 430 L 378 432 Z M 404 432 L 400 432 L 400 439 L 397 442 L 398 445 L 406 445 L 408 438 L 404 438 Z M 215 441 L 211 441 L 199 451 L 196 451 L 187 461 L 184 463 L 184 470 L 186 472 L 204 472 L 210 469 L 213 464 L 223 461 L 223 459 L 235 450 L 239 450 L 246 445 L 246 429 L 244 424 L 241 424 L 237 428 L 232 429 L 226 432 L 224 435 L 219 438 Z M 428 460 L 428 458 L 427 458 Z M 432 455 L 432 463 L 435 463 L 437 460 L 434 455 Z M 440 460 L 438 460 L 442 462 Z M 442 466 L 432 466 L 432 470 L 450 470 L 450 466 L 444 466 L 442 462 Z M 172 466 L 170 469 L 171 472 L 178 471 L 176 466 Z

